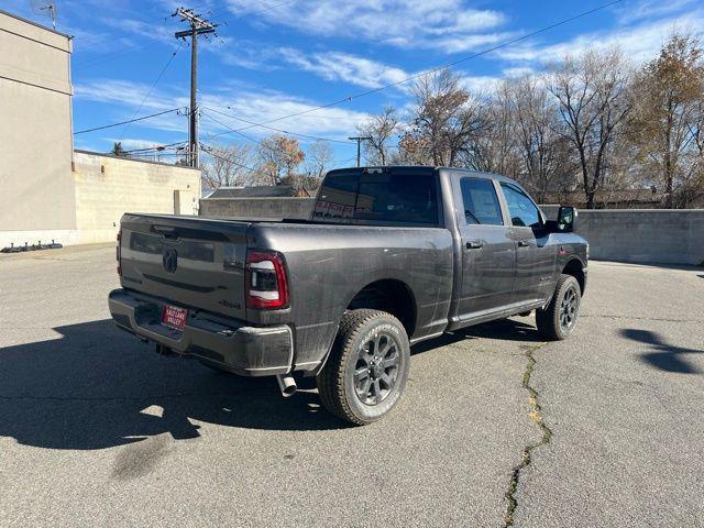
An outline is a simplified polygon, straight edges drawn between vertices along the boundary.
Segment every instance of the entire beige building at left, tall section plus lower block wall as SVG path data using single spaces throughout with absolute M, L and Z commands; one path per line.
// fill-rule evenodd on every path
M 0 249 L 114 241 L 124 212 L 198 213 L 199 170 L 74 153 L 70 53 L 0 10 Z

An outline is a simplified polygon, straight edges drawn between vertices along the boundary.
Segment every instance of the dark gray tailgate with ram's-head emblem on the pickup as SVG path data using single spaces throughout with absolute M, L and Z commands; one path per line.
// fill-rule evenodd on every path
M 124 215 L 124 288 L 244 319 L 248 222 Z

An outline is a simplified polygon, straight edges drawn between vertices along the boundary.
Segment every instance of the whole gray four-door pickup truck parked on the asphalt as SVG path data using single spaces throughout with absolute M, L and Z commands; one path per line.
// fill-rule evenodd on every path
M 331 413 L 369 424 L 398 402 L 414 343 L 532 310 L 546 340 L 572 332 L 575 216 L 547 221 L 492 174 L 332 170 L 306 221 L 124 215 L 110 312 L 162 353 L 276 376 L 284 396 L 315 375 Z

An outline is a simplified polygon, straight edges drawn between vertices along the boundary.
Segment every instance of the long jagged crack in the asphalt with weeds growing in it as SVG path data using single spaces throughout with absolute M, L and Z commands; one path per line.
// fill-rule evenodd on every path
M 512 473 L 510 482 L 508 484 L 508 490 L 506 491 L 505 497 L 508 502 L 506 506 L 506 513 L 504 514 L 504 524 L 502 528 L 507 528 L 509 526 L 514 526 L 514 514 L 516 508 L 518 507 L 518 501 L 516 499 L 516 491 L 518 490 L 518 482 L 520 481 L 521 471 L 530 464 L 530 455 L 532 451 L 541 446 L 546 446 L 550 443 L 550 439 L 552 438 L 552 431 L 548 426 L 546 426 L 542 420 L 542 408 L 538 402 L 538 391 L 536 391 L 532 385 L 530 385 L 530 376 L 537 365 L 537 361 L 534 356 L 534 353 L 543 348 L 546 343 L 540 343 L 531 346 L 527 346 L 526 353 L 524 354 L 528 359 L 528 364 L 526 365 L 526 371 L 524 372 L 522 386 L 526 391 L 528 391 L 528 405 L 530 407 L 530 411 L 528 413 L 529 418 L 538 425 L 541 431 L 540 440 L 529 443 L 526 446 L 521 452 L 521 461 L 518 465 L 514 468 Z

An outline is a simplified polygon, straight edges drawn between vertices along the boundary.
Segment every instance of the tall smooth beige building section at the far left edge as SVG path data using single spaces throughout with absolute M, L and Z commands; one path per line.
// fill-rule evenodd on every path
M 0 11 L 0 232 L 76 228 L 70 53 L 70 37 Z

